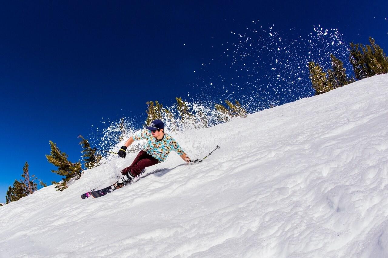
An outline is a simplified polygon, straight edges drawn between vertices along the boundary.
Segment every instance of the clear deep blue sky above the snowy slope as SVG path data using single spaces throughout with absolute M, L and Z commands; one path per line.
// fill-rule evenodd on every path
M 222 65 L 206 70 L 202 63 L 224 55 L 223 44 L 238 43 L 231 31 L 274 26 L 306 35 L 320 24 L 338 28 L 346 44 L 372 36 L 388 51 L 382 0 L 139 2 L 2 3 L 0 202 L 26 161 L 46 183 L 59 180 L 45 157 L 49 140 L 77 161 L 77 136 L 88 138 L 102 118 L 133 116 L 140 126 L 146 101 L 171 105 L 175 97 L 203 95 L 211 73 L 227 79 Z

